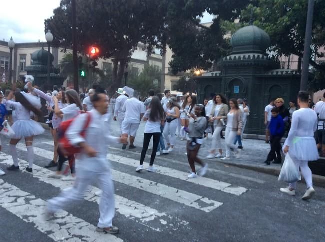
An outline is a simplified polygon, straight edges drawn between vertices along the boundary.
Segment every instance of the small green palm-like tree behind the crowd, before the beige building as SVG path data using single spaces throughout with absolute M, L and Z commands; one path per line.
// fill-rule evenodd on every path
M 155 84 L 154 80 L 158 80 Z M 129 86 L 140 92 L 143 97 L 148 96 L 149 90 L 155 90 L 155 93 L 159 92 L 159 83 L 161 81 L 161 70 L 155 66 L 145 64 L 141 73 L 133 78 L 129 79 Z

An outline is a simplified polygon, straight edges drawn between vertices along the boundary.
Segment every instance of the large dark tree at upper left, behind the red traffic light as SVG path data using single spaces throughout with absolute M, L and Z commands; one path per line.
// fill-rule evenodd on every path
M 99 58 L 113 59 L 110 92 L 120 86 L 124 67 L 139 42 L 145 44 L 148 55 L 154 47 L 165 45 L 164 3 L 161 0 L 77 1 L 77 49 L 86 53 L 90 45 L 97 45 Z M 45 20 L 45 32 L 47 29 L 54 35 L 54 46 L 71 47 L 70 0 L 61 0 L 54 15 Z

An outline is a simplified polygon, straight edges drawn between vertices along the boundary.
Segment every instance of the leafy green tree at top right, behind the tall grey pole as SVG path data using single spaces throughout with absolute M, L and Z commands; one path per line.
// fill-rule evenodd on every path
M 254 24 L 270 35 L 271 51 L 277 55 L 297 55 L 302 58 L 307 5 L 307 0 L 254 0 L 242 10 L 240 21 L 247 23 L 253 10 Z M 317 91 L 325 88 L 325 65 L 315 61 L 315 57 L 325 57 L 324 0 L 315 0 L 311 47 L 309 64 L 313 67 L 315 79 L 309 83 L 309 89 Z

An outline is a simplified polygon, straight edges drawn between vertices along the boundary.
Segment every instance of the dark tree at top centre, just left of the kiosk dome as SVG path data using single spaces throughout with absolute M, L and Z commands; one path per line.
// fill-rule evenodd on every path
M 230 52 L 224 20 L 234 21 L 249 0 L 167 0 L 166 36 L 173 51 L 172 72 L 207 70 L 215 60 Z M 218 16 L 210 26 L 200 23 L 207 11 Z

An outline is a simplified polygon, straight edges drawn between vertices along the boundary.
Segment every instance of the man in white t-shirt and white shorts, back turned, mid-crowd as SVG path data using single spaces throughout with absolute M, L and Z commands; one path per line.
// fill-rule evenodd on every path
M 144 106 L 138 99 L 138 93 L 134 91 L 134 97 L 125 100 L 122 110 L 125 111 L 125 118 L 122 122 L 122 136 L 130 135 L 129 149 L 134 149 L 134 139 L 140 125 L 140 121 L 144 114 Z M 126 149 L 126 144 L 123 144 L 122 149 Z

